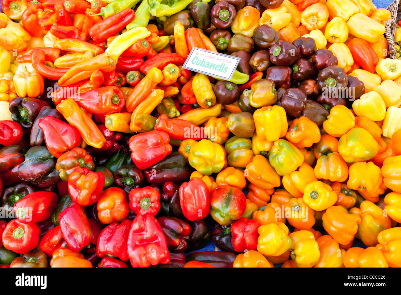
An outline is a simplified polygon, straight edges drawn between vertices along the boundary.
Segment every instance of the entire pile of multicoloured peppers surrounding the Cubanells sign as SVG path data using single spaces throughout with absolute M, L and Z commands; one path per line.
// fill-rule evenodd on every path
M 1 4 L 2 267 L 401 267 L 388 10 Z M 231 79 L 183 68 L 193 48 Z

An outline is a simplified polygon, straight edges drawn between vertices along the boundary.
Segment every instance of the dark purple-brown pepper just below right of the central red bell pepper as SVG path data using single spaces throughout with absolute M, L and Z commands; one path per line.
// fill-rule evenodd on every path
M 166 181 L 181 183 L 189 178 L 186 159 L 180 152 L 173 152 L 162 161 L 144 170 L 149 183 L 162 185 Z

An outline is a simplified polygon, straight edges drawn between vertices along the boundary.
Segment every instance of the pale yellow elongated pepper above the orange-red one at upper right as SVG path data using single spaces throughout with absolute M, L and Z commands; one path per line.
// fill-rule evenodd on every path
M 386 29 L 383 24 L 371 19 L 363 13 L 356 13 L 347 21 L 349 33 L 370 43 L 381 40 Z

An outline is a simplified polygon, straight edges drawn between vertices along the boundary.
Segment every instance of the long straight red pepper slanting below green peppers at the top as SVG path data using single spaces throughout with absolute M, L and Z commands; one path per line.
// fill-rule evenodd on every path
M 89 28 L 89 36 L 95 42 L 101 42 L 122 31 L 135 17 L 131 8 L 126 8 L 109 16 Z

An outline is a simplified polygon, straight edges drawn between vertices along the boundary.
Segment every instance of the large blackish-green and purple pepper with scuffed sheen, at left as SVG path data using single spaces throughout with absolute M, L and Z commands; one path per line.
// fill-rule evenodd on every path
M 57 183 L 55 157 L 46 146 L 33 146 L 25 154 L 25 161 L 18 167 L 18 177 L 37 187 L 48 187 Z

